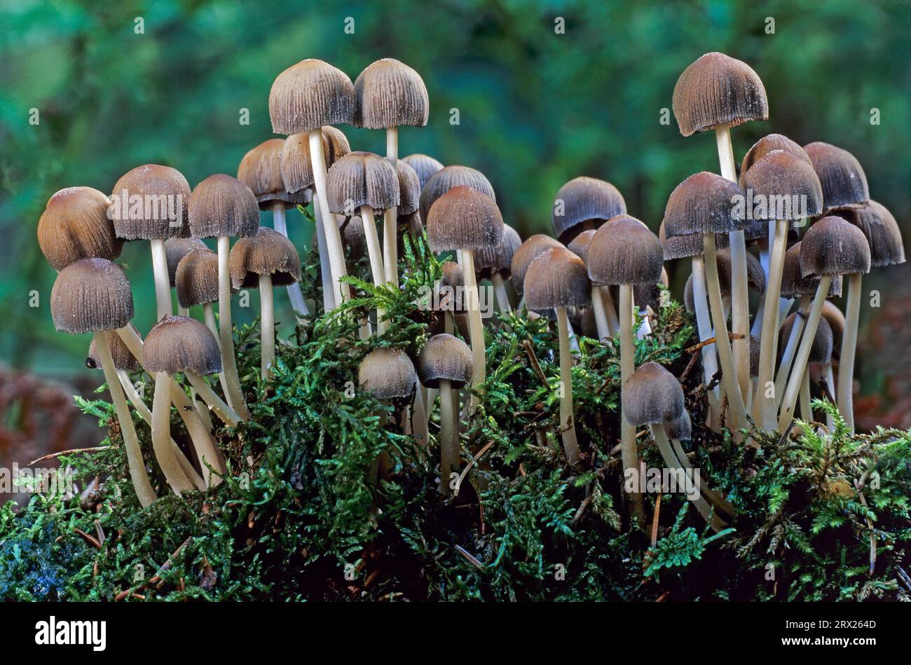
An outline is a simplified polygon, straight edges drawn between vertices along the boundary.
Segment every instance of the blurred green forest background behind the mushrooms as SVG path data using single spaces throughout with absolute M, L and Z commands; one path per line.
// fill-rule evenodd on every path
M 565 34 L 555 31 L 558 17 Z M 352 79 L 384 56 L 415 67 L 430 122 L 402 130 L 400 154 L 481 169 L 504 219 L 525 236 L 549 230 L 557 189 L 578 175 L 613 182 L 630 213 L 657 230 L 670 190 L 718 168 L 711 133 L 681 138 L 672 116 L 660 123 L 683 68 L 713 50 L 748 62 L 768 91 L 770 120 L 733 131 L 738 161 L 773 131 L 835 143 L 861 160 L 873 197 L 906 223 L 907 0 L 2 0 L 0 363 L 56 377 L 87 372 L 87 336 L 56 333 L 50 319 L 55 272 L 38 250 L 36 223 L 51 194 L 73 185 L 109 193 L 121 174 L 149 162 L 176 167 L 190 186 L 236 174 L 243 154 L 272 136 L 273 78 L 302 58 L 327 60 Z M 32 108 L 38 125 L 29 123 Z M 242 108 L 249 125 L 239 121 Z M 384 150 L 382 132 L 343 130 L 355 149 Z M 312 227 L 296 211 L 289 225 L 303 248 Z M 121 261 L 145 333 L 154 319 L 148 243 L 129 244 Z M 895 274 L 872 279 L 888 292 Z M 254 295 L 238 321 L 250 321 L 256 304 Z M 279 318 L 290 321 L 290 311 Z

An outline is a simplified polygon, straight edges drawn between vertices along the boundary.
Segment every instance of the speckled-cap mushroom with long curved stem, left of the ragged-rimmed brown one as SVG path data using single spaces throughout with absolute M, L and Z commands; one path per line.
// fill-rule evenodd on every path
M 230 315 L 230 238 L 251 236 L 260 228 L 256 197 L 240 180 L 218 173 L 204 179 L 189 199 L 189 227 L 194 238 L 217 238 L 219 254 L 219 341 L 228 404 L 241 420 L 250 417 L 234 358 Z

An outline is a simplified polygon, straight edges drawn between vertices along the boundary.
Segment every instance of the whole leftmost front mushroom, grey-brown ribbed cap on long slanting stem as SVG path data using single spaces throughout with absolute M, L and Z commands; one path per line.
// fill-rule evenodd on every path
M 107 259 L 80 259 L 61 270 L 51 290 L 51 315 L 58 331 L 94 333 L 95 346 L 107 389 L 114 403 L 127 454 L 129 477 L 139 504 L 148 506 L 157 498 L 148 482 L 146 466 L 133 418 L 118 380 L 105 331 L 116 330 L 133 318 L 133 293 L 127 275 Z

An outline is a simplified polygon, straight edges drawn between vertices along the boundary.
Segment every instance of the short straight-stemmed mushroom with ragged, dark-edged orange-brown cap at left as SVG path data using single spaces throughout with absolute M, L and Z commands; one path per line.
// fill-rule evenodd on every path
M 275 308 L 272 286 L 287 286 L 301 279 L 301 259 L 291 240 L 260 227 L 256 235 L 241 238 L 230 251 L 230 281 L 235 291 L 260 290 L 260 371 L 271 377 L 275 363 Z

